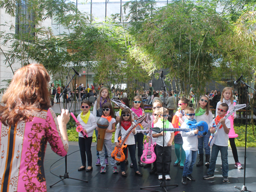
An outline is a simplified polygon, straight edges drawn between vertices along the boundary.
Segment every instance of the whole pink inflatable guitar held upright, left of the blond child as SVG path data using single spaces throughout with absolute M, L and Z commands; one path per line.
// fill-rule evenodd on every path
M 148 119 L 148 114 L 146 115 L 146 122 L 148 123 L 148 127 L 150 126 L 150 120 Z M 148 132 L 148 136 L 150 137 L 150 139 L 148 139 L 148 142 L 146 142 L 146 140 L 144 141 L 144 150 L 143 150 L 143 154 L 141 155 L 141 162 L 143 163 L 153 163 L 156 159 L 157 156 L 154 152 L 154 148 L 156 147 L 156 142 L 153 144 L 152 143 L 152 130 L 149 130 Z

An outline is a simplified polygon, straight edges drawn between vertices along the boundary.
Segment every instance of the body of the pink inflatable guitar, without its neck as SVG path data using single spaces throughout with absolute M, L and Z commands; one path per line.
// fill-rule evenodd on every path
M 149 143 L 146 142 L 146 140 L 144 141 L 144 150 L 143 150 L 143 154 L 141 155 L 141 158 L 140 160 L 143 162 L 143 163 L 153 163 L 156 159 L 157 159 L 157 156 L 155 154 L 155 147 L 156 147 L 156 143 L 154 144 L 151 144 L 150 146 L 148 146 Z

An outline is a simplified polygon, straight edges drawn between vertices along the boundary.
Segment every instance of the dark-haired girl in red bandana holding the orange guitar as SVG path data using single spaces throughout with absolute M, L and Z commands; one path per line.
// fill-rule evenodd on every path
M 121 112 L 119 124 L 117 125 L 117 129 L 115 132 L 116 147 L 121 147 L 118 142 L 119 132 L 121 132 L 121 135 L 122 135 L 121 139 L 123 139 L 123 137 L 127 133 L 127 130 L 129 130 L 130 127 L 134 124 L 135 123 L 132 122 L 132 115 L 131 115 L 130 109 L 123 109 Z M 135 144 L 135 138 L 134 138 L 134 135 L 136 133 L 137 133 L 136 129 L 133 129 L 133 131 L 126 138 L 124 144 L 126 144 L 127 148 L 129 149 L 131 160 L 133 162 L 133 169 L 134 169 L 135 175 L 142 176 L 142 174 L 138 170 L 137 161 L 136 161 L 136 144 Z M 127 148 L 125 148 L 123 150 L 124 154 L 126 154 Z M 127 158 L 127 156 L 126 156 L 126 158 Z M 126 177 L 127 175 L 125 173 L 125 162 L 124 161 L 121 162 L 121 171 L 122 171 L 122 176 Z

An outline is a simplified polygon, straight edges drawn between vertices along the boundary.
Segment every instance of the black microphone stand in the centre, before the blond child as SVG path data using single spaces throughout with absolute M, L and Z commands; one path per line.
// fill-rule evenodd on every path
M 165 119 L 165 117 L 164 117 L 164 109 L 165 109 L 164 101 L 165 101 L 165 92 L 167 90 L 166 90 L 166 85 L 165 85 L 165 82 L 164 82 L 163 70 L 162 70 L 160 79 L 161 79 L 162 84 L 163 84 L 163 86 L 162 86 L 162 88 L 163 88 L 163 118 Z M 164 133 L 164 130 L 165 130 L 165 128 L 164 128 L 164 121 L 163 121 L 163 133 Z M 165 183 L 165 174 L 164 174 L 164 137 L 165 137 L 165 134 L 163 134 L 163 153 L 162 153 L 162 156 L 163 156 L 163 158 L 162 158 L 163 159 L 162 160 L 162 176 L 163 176 L 163 179 L 162 179 L 162 182 L 160 182 L 160 185 L 140 187 L 140 189 L 143 189 L 143 188 L 153 188 L 153 187 L 162 187 L 162 189 L 164 189 L 167 192 L 167 190 L 166 190 L 167 186 L 179 186 L 178 184 L 166 185 L 166 183 Z

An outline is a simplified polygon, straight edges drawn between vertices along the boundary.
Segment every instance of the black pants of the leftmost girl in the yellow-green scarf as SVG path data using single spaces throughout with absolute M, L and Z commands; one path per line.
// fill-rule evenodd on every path
M 82 166 L 86 166 L 86 155 L 87 155 L 88 166 L 92 166 L 92 152 L 91 152 L 92 141 L 93 141 L 93 137 L 88 137 L 87 139 L 83 137 L 78 138 Z

